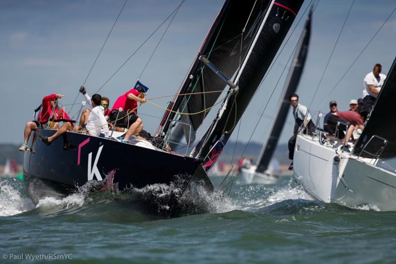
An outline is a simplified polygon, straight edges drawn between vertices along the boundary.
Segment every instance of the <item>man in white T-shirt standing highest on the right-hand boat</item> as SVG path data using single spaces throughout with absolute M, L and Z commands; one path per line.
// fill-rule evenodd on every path
M 382 65 L 377 63 L 374 65 L 373 71 L 367 73 L 363 82 L 363 105 L 364 111 L 370 112 L 371 107 L 374 105 L 375 99 L 380 93 L 381 87 L 387 78 L 385 74 L 381 73 Z

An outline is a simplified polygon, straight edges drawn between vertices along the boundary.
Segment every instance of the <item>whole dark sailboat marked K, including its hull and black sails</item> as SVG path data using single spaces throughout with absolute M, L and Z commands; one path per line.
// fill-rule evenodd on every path
M 222 108 L 193 155 L 68 131 L 50 146 L 38 141 L 36 154 L 25 152 L 24 175 L 32 200 L 37 203 L 46 196 L 68 195 L 93 179 L 104 181 L 106 186 L 120 191 L 172 182 L 181 182 L 181 189 L 196 182 L 212 190 L 206 171 L 211 166 L 207 165 L 208 160 L 213 159 L 207 157 L 215 151 L 221 152 L 214 147 L 220 141 L 224 145 L 231 135 L 234 122 L 241 118 L 301 4 L 302 0 L 227 0 L 224 3 L 179 94 L 206 92 L 208 85 L 213 91 L 219 87 L 224 89 L 224 78 L 222 80 L 218 73 L 209 69 L 220 65 L 223 65 L 220 70 L 226 76 L 236 75 L 234 83 L 237 86 L 230 87 Z M 232 82 L 228 80 L 228 84 Z M 175 97 L 164 114 L 157 136 L 165 141 L 168 139 L 172 121 L 180 121 L 183 116 L 175 117 L 177 111 L 194 113 L 203 110 L 202 114 L 190 117 L 196 131 L 206 109 L 217 98 L 218 95 L 213 94 Z M 40 135 L 44 136 L 54 133 L 51 129 L 40 130 Z

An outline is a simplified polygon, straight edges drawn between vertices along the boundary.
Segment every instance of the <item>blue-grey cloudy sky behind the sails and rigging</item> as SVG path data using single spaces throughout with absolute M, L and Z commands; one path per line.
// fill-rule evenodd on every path
M 66 111 L 77 97 L 79 105 L 69 112 L 74 116 L 84 101 L 78 89 L 87 76 L 85 86 L 92 95 L 180 2 L 129 0 L 88 76 L 123 0 L 0 0 L 0 143 L 23 143 L 25 123 L 32 120 L 33 109 L 46 95 L 65 95 L 60 102 L 66 105 Z M 169 96 L 152 100 L 162 107 L 172 100 L 223 2 L 187 0 L 183 3 L 140 78 L 150 88 L 147 99 Z M 389 71 L 396 56 L 396 12 L 373 36 L 396 8 L 395 0 L 355 0 L 337 46 L 352 1 L 306 0 L 285 39 L 290 36 L 289 41 L 284 41 L 284 50 L 274 61 L 230 140 L 247 142 L 251 138 L 252 142 L 264 142 L 309 4 L 317 4 L 317 7 L 297 93 L 300 103 L 309 106 L 314 117 L 319 111 L 328 112 L 331 100 L 338 102 L 340 110 L 348 110 L 349 100 L 361 97 L 363 78 L 375 63 L 382 64 L 384 74 Z M 110 99 L 110 105 L 133 88 L 168 23 L 169 20 L 99 91 Z M 210 120 L 215 112 L 217 109 L 206 119 Z M 139 108 L 144 127 L 150 133 L 155 132 L 163 113 L 162 108 L 149 103 Z M 290 111 L 280 143 L 287 143 L 293 126 Z M 203 126 L 198 130 L 197 138 L 205 129 Z

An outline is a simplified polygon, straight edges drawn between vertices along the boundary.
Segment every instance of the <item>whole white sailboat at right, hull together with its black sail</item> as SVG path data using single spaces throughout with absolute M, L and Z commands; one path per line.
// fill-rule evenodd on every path
M 348 207 L 396 211 L 396 116 L 389 106 L 396 96 L 396 58 L 351 152 L 321 134 L 300 133 L 294 176 L 310 197 Z M 318 117 L 318 119 L 320 116 Z M 317 122 L 318 123 L 318 122 Z

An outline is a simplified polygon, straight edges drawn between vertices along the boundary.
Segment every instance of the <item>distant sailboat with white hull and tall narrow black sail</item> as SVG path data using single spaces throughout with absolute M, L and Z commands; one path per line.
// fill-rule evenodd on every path
M 260 155 L 257 158 L 257 162 L 255 165 L 249 168 L 242 168 L 242 177 L 247 183 L 256 181 L 254 180 L 254 176 L 258 177 L 257 182 L 262 183 L 269 184 L 274 183 L 277 180 L 275 177 L 276 175 L 273 175 L 273 172 L 268 170 L 268 165 L 275 152 L 275 148 L 278 144 L 279 137 L 287 119 L 290 109 L 289 96 L 296 92 L 302 71 L 304 69 L 311 35 L 311 17 L 312 11 L 310 11 L 306 19 L 304 29 L 297 43 L 292 66 L 286 78 L 286 83 L 282 90 L 278 107 L 273 116 L 268 136 L 266 137 Z

